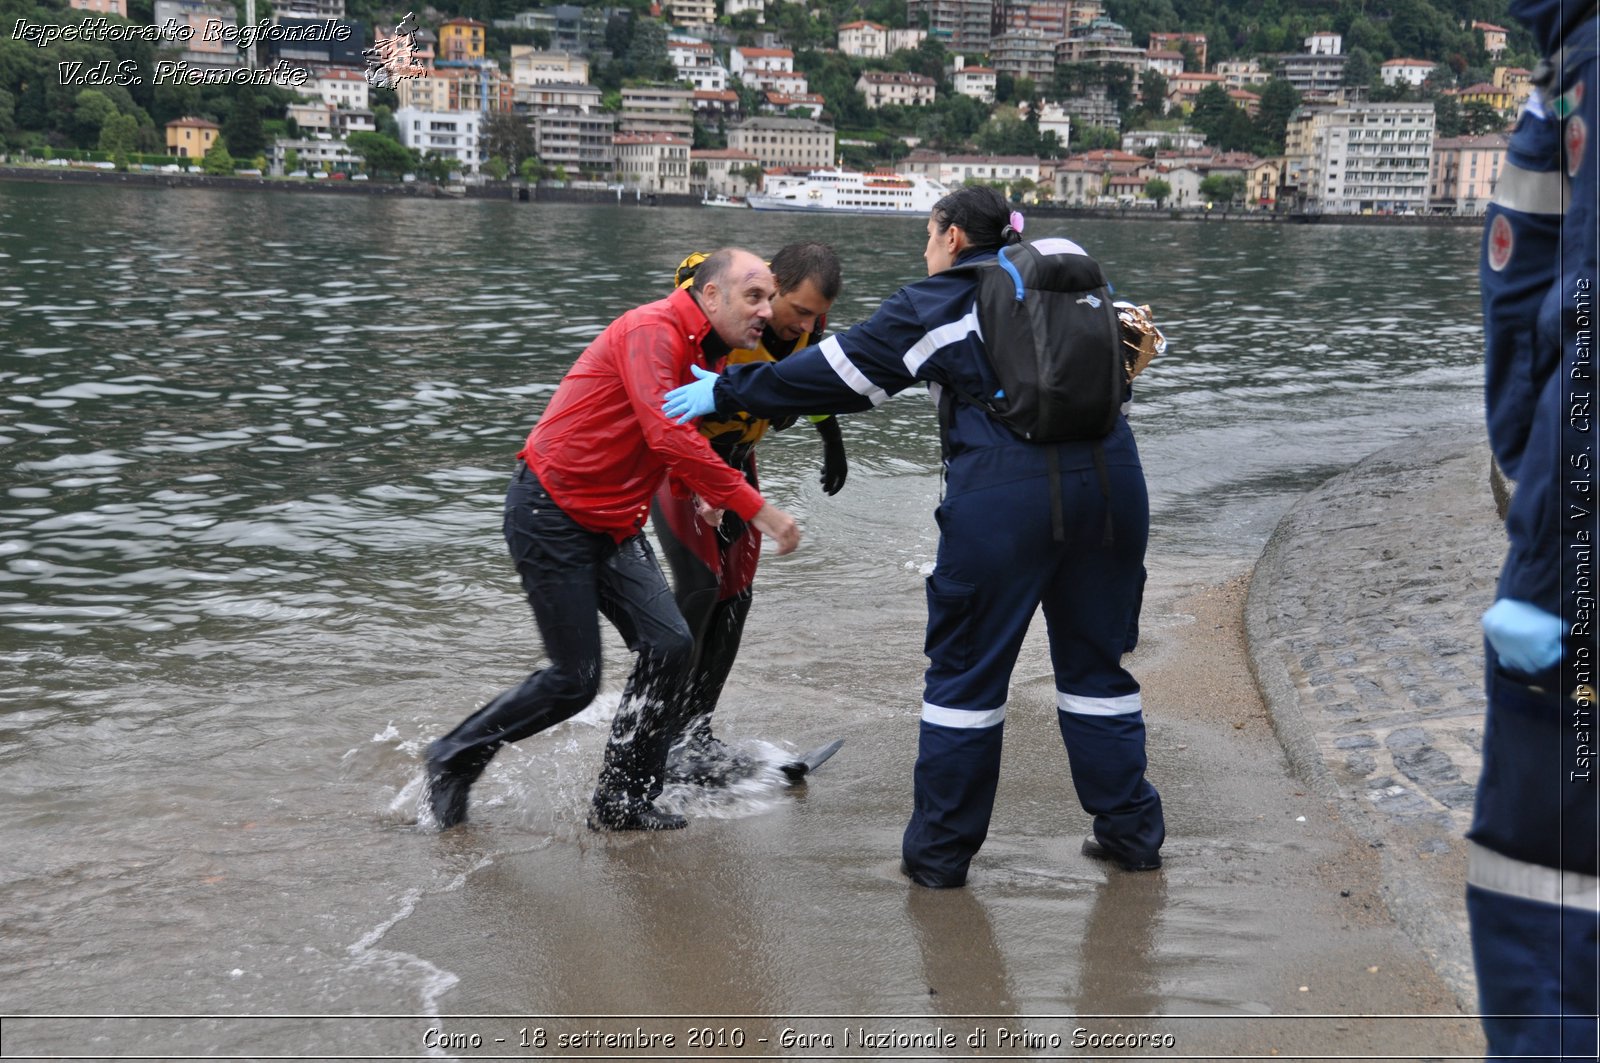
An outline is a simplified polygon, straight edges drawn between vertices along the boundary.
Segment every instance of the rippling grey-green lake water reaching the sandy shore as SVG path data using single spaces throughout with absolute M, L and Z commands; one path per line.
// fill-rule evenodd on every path
M 1134 405 L 1152 588 L 1248 572 L 1304 490 L 1482 419 L 1475 229 L 1038 216 L 1027 235 L 1080 242 L 1170 339 Z M 923 274 L 922 219 L 0 184 L 0 1013 L 845 1010 L 782 961 L 768 985 L 696 967 L 661 988 L 653 962 L 683 940 L 814 956 L 754 916 L 611 937 L 670 900 L 651 884 L 675 861 L 715 856 L 701 868 L 725 898 L 794 900 L 763 845 L 784 850 L 805 810 L 678 794 L 742 824 L 712 855 L 698 824 L 670 844 L 584 831 L 627 664 L 610 629 L 600 703 L 502 751 L 472 831 L 413 824 L 422 746 L 539 660 L 499 506 L 549 392 L 685 253 L 797 239 L 843 259 L 835 328 Z M 763 445 L 766 495 L 805 541 L 763 562 L 720 719 L 787 748 L 850 738 L 842 788 L 894 760 L 882 802 L 789 853 L 850 879 L 898 852 L 909 807 L 939 483 L 925 394 L 843 431 L 835 498 L 803 426 Z M 507 872 L 595 853 L 605 889 Z M 467 938 L 405 941 L 422 911 L 474 906 Z M 518 949 L 482 929 L 546 919 L 562 933 Z M 467 993 L 480 962 L 499 988 Z M 248 1023 L 62 1031 L 48 1050 L 317 1044 Z

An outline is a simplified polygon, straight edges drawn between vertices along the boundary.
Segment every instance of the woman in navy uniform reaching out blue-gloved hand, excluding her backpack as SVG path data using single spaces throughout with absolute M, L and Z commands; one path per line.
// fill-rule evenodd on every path
M 854 413 L 918 381 L 995 394 L 978 327 L 978 280 L 944 271 L 995 258 L 1021 242 L 1021 215 L 994 189 L 950 192 L 928 218 L 926 279 L 901 288 L 866 322 L 782 362 L 736 365 L 720 376 L 696 370 L 701 379 L 667 392 L 667 415 Z M 1058 243 L 1083 255 L 1067 240 Z M 1144 775 L 1139 684 L 1122 666 L 1150 522 L 1133 431 L 1118 413 L 1101 440 L 1045 445 L 976 405 L 949 407 L 902 869 L 925 887 L 965 885 L 989 832 L 1011 669 L 1040 605 L 1072 781 L 1094 818 L 1083 850 L 1131 871 L 1158 868 L 1162 800 Z M 1059 540 L 1051 451 L 1066 522 Z

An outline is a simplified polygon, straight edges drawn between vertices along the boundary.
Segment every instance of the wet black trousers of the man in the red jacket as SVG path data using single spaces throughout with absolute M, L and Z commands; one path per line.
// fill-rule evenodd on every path
M 667 744 L 688 722 L 694 639 L 643 535 L 618 544 L 579 527 L 518 463 L 506 491 L 506 544 L 533 607 L 549 664 L 438 740 L 445 768 L 477 775 L 509 741 L 582 711 L 600 690 L 600 615 L 637 653 L 611 725 L 597 797 L 661 792 Z

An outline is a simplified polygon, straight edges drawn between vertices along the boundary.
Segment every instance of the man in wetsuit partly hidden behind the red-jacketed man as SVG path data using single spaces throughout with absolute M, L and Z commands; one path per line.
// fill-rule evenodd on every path
M 678 266 L 678 287 L 694 285 L 694 274 L 704 255 L 691 255 Z M 710 344 L 706 360 L 712 368 L 747 362 L 778 362 L 792 351 L 818 343 L 824 319 L 838 298 L 838 256 L 826 243 L 790 243 L 773 256 L 773 317 L 762 341 L 754 347 L 723 352 L 715 357 Z M 795 418 L 771 421 L 744 410 L 723 418 L 709 416 L 699 423 L 701 435 L 731 467 L 744 474 L 750 487 L 755 475 L 755 443 L 768 427 L 784 429 Z M 834 416 L 813 418 L 822 437 L 822 490 L 837 493 L 845 485 L 845 440 Z M 694 666 L 690 679 L 688 709 L 691 724 L 674 744 L 667 760 L 667 776 L 699 784 L 720 784 L 754 768 L 754 762 L 712 736 L 710 714 L 722 696 L 723 684 L 739 653 L 739 637 L 750 612 L 755 565 L 762 556 L 762 540 L 734 512 L 715 519 L 702 512 L 680 482 L 656 491 L 651 515 L 656 538 L 672 570 L 672 586 L 678 610 L 694 632 Z M 712 517 L 714 522 L 707 522 Z

